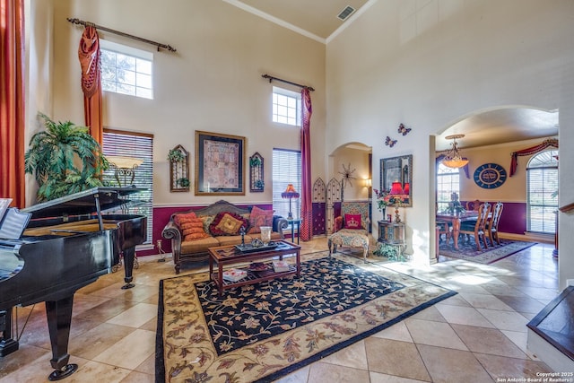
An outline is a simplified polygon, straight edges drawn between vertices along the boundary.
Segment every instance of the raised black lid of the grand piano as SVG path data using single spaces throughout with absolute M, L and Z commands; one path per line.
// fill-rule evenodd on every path
M 22 209 L 31 213 L 31 219 L 100 213 L 132 202 L 122 197 L 146 190 L 138 187 L 92 187 L 69 196 L 62 196 L 42 204 Z M 96 205 L 100 202 L 100 209 Z M 100 212 L 98 212 L 100 210 Z

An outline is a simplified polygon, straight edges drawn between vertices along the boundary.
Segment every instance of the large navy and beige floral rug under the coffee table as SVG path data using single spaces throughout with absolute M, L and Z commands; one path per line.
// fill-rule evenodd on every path
M 204 273 L 162 280 L 156 382 L 272 381 L 456 294 L 325 255 L 222 297 Z

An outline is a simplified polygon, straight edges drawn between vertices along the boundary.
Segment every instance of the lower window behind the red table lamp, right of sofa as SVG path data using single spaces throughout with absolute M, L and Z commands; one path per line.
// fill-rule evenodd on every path
M 289 215 L 289 199 L 281 194 L 287 185 L 293 184 L 295 190 L 301 192 L 301 152 L 285 149 L 273 150 L 273 209 L 275 214 L 284 218 Z M 293 218 L 300 217 L 300 198 L 291 199 Z

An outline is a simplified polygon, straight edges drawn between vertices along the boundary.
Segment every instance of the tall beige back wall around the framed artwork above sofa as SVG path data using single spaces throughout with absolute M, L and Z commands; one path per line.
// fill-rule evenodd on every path
M 43 0 L 32 0 L 41 9 Z M 154 56 L 154 100 L 104 92 L 104 125 L 154 135 L 154 205 L 207 204 L 222 196 L 170 193 L 168 151 L 182 144 L 190 152 L 194 169 L 195 131 L 247 137 L 246 155 L 259 152 L 271 164 L 274 147 L 300 149 L 300 130 L 271 123 L 273 84 L 261 77 L 272 74 L 309 84 L 313 116 L 312 178 L 325 178 L 325 46 L 222 1 L 202 0 L 57 0 L 53 2 L 53 42 L 50 57 L 35 57 L 32 66 L 43 67 L 52 59 L 52 73 L 30 93 L 51 94 L 51 108 L 31 108 L 83 125 L 83 99 L 77 48 L 82 27 L 66 21 L 83 21 L 152 39 L 177 48 L 157 52 L 153 46 L 100 32 L 109 39 L 148 50 Z M 32 8 L 34 8 L 32 6 Z M 39 25 L 43 29 L 42 25 Z M 34 61 L 34 60 L 31 60 Z M 276 83 L 284 86 L 283 83 Z M 51 89 L 49 87 L 51 86 Z M 298 88 L 292 90 L 299 91 Z M 36 109 L 36 110 L 34 110 Z M 246 172 L 248 168 L 246 166 Z M 244 203 L 272 200 L 271 166 L 265 166 L 265 193 L 228 196 Z M 193 171 L 191 179 L 193 182 Z

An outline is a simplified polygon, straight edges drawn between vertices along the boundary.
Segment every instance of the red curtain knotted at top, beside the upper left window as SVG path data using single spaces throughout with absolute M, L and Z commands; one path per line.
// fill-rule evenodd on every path
M 78 48 L 82 67 L 83 118 L 90 126 L 90 135 L 100 145 L 103 142 L 101 124 L 100 39 L 98 31 L 88 25 L 83 30 Z

